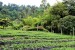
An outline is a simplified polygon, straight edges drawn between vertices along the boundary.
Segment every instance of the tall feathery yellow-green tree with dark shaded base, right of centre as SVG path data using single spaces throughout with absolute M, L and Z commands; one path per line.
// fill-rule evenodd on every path
M 51 14 L 51 11 L 52 7 L 50 6 L 44 11 L 42 16 L 44 27 L 51 32 L 58 32 L 58 20 L 60 19 L 60 16 Z

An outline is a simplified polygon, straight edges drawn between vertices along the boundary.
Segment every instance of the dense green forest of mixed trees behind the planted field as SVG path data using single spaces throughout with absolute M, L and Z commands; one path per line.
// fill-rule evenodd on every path
M 75 34 L 75 0 L 63 0 L 50 6 L 42 0 L 39 7 L 0 2 L 0 29 L 48 31 Z

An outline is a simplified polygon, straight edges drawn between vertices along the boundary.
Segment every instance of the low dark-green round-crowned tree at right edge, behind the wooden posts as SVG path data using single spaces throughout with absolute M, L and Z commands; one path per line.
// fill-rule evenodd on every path
M 63 28 L 63 32 L 69 34 L 72 32 L 74 35 L 75 28 L 75 16 L 66 16 L 59 20 L 61 28 Z

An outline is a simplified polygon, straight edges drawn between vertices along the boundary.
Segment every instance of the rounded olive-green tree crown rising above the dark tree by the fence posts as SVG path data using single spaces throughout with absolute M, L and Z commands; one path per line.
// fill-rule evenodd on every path
M 51 13 L 53 15 L 60 15 L 61 18 L 68 15 L 68 9 L 65 4 L 57 3 L 52 7 Z

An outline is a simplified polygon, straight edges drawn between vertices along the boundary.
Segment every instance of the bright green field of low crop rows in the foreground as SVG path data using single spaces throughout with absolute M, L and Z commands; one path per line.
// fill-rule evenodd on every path
M 75 36 L 40 31 L 0 31 L 0 50 L 67 49 L 75 49 Z

